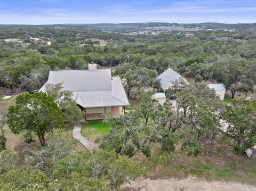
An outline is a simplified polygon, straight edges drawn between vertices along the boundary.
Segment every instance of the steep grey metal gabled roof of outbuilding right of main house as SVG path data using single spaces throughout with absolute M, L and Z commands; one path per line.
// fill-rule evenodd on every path
M 165 92 L 169 87 L 172 86 L 172 83 L 178 79 L 187 81 L 185 78 L 183 78 L 180 74 L 175 72 L 172 69 L 167 69 L 163 73 L 161 73 L 158 77 L 156 77 L 156 80 L 160 80 L 160 92 Z

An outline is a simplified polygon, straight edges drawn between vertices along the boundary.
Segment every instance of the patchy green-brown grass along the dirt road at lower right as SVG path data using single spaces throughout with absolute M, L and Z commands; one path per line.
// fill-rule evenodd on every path
M 197 157 L 187 156 L 187 151 L 167 153 L 151 145 L 151 157 L 138 153 L 133 160 L 140 161 L 151 179 L 187 178 L 241 182 L 256 186 L 256 156 L 247 158 L 234 154 L 220 138 L 204 143 L 204 151 Z M 255 152 L 255 150 L 253 151 Z

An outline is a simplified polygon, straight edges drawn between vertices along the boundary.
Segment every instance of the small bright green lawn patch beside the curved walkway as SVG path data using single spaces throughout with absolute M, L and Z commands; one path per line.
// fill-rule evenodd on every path
M 82 123 L 81 135 L 95 142 L 95 139 L 108 134 L 110 128 L 102 120 L 95 120 Z

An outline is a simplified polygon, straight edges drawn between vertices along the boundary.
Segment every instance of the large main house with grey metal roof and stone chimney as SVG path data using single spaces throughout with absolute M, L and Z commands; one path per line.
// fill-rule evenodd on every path
M 63 82 L 63 90 L 73 92 L 85 120 L 103 119 L 102 113 L 117 118 L 125 113 L 125 106 L 130 105 L 121 78 L 111 77 L 110 69 L 97 70 L 97 65 L 89 64 L 89 70 L 50 71 L 40 91 L 45 91 L 46 84 L 60 82 Z

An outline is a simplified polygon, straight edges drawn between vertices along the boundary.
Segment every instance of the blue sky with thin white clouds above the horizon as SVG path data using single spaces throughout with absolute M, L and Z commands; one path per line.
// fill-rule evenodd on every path
M 0 24 L 256 22 L 256 1 L 1 0 Z

